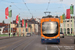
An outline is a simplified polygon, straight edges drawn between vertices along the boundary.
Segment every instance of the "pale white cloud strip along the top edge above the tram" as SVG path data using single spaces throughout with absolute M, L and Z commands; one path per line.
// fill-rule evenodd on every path
M 26 3 L 35 3 L 35 4 L 43 4 L 43 3 L 48 3 L 49 0 L 26 0 Z M 66 5 L 71 5 L 74 4 L 75 5 L 75 0 L 50 0 L 50 3 L 62 3 L 62 4 L 66 4 Z

